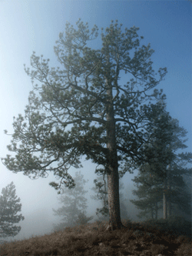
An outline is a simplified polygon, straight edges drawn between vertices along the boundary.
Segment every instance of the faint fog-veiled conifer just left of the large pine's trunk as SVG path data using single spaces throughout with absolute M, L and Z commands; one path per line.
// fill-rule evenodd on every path
M 87 206 L 87 200 L 84 197 L 88 191 L 84 190 L 84 184 L 87 182 L 83 180 L 83 175 L 81 172 L 76 172 L 74 177 L 75 187 L 70 190 L 64 187 L 65 197 L 59 197 L 61 203 L 64 204 L 57 211 L 52 209 L 55 214 L 58 216 L 64 216 L 62 223 L 55 225 L 54 231 L 60 231 L 65 227 L 74 227 L 78 224 L 87 224 L 88 221 L 91 221 L 93 217 L 86 217 L 85 209 Z

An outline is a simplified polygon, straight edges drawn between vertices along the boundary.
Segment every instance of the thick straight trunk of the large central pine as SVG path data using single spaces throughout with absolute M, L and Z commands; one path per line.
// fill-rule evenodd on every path
M 112 88 L 108 89 L 107 106 L 107 148 L 108 152 L 108 210 L 109 224 L 107 230 L 121 229 L 120 200 L 119 200 L 119 175 L 118 175 L 118 153 L 116 147 L 114 107 L 112 102 Z

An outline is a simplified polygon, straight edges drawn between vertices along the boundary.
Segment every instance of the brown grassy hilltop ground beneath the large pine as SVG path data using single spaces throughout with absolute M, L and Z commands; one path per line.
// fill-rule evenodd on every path
M 0 245 L 2 255 L 192 255 L 191 223 L 122 221 L 125 229 L 106 231 L 107 222 L 66 227 L 63 231 Z

